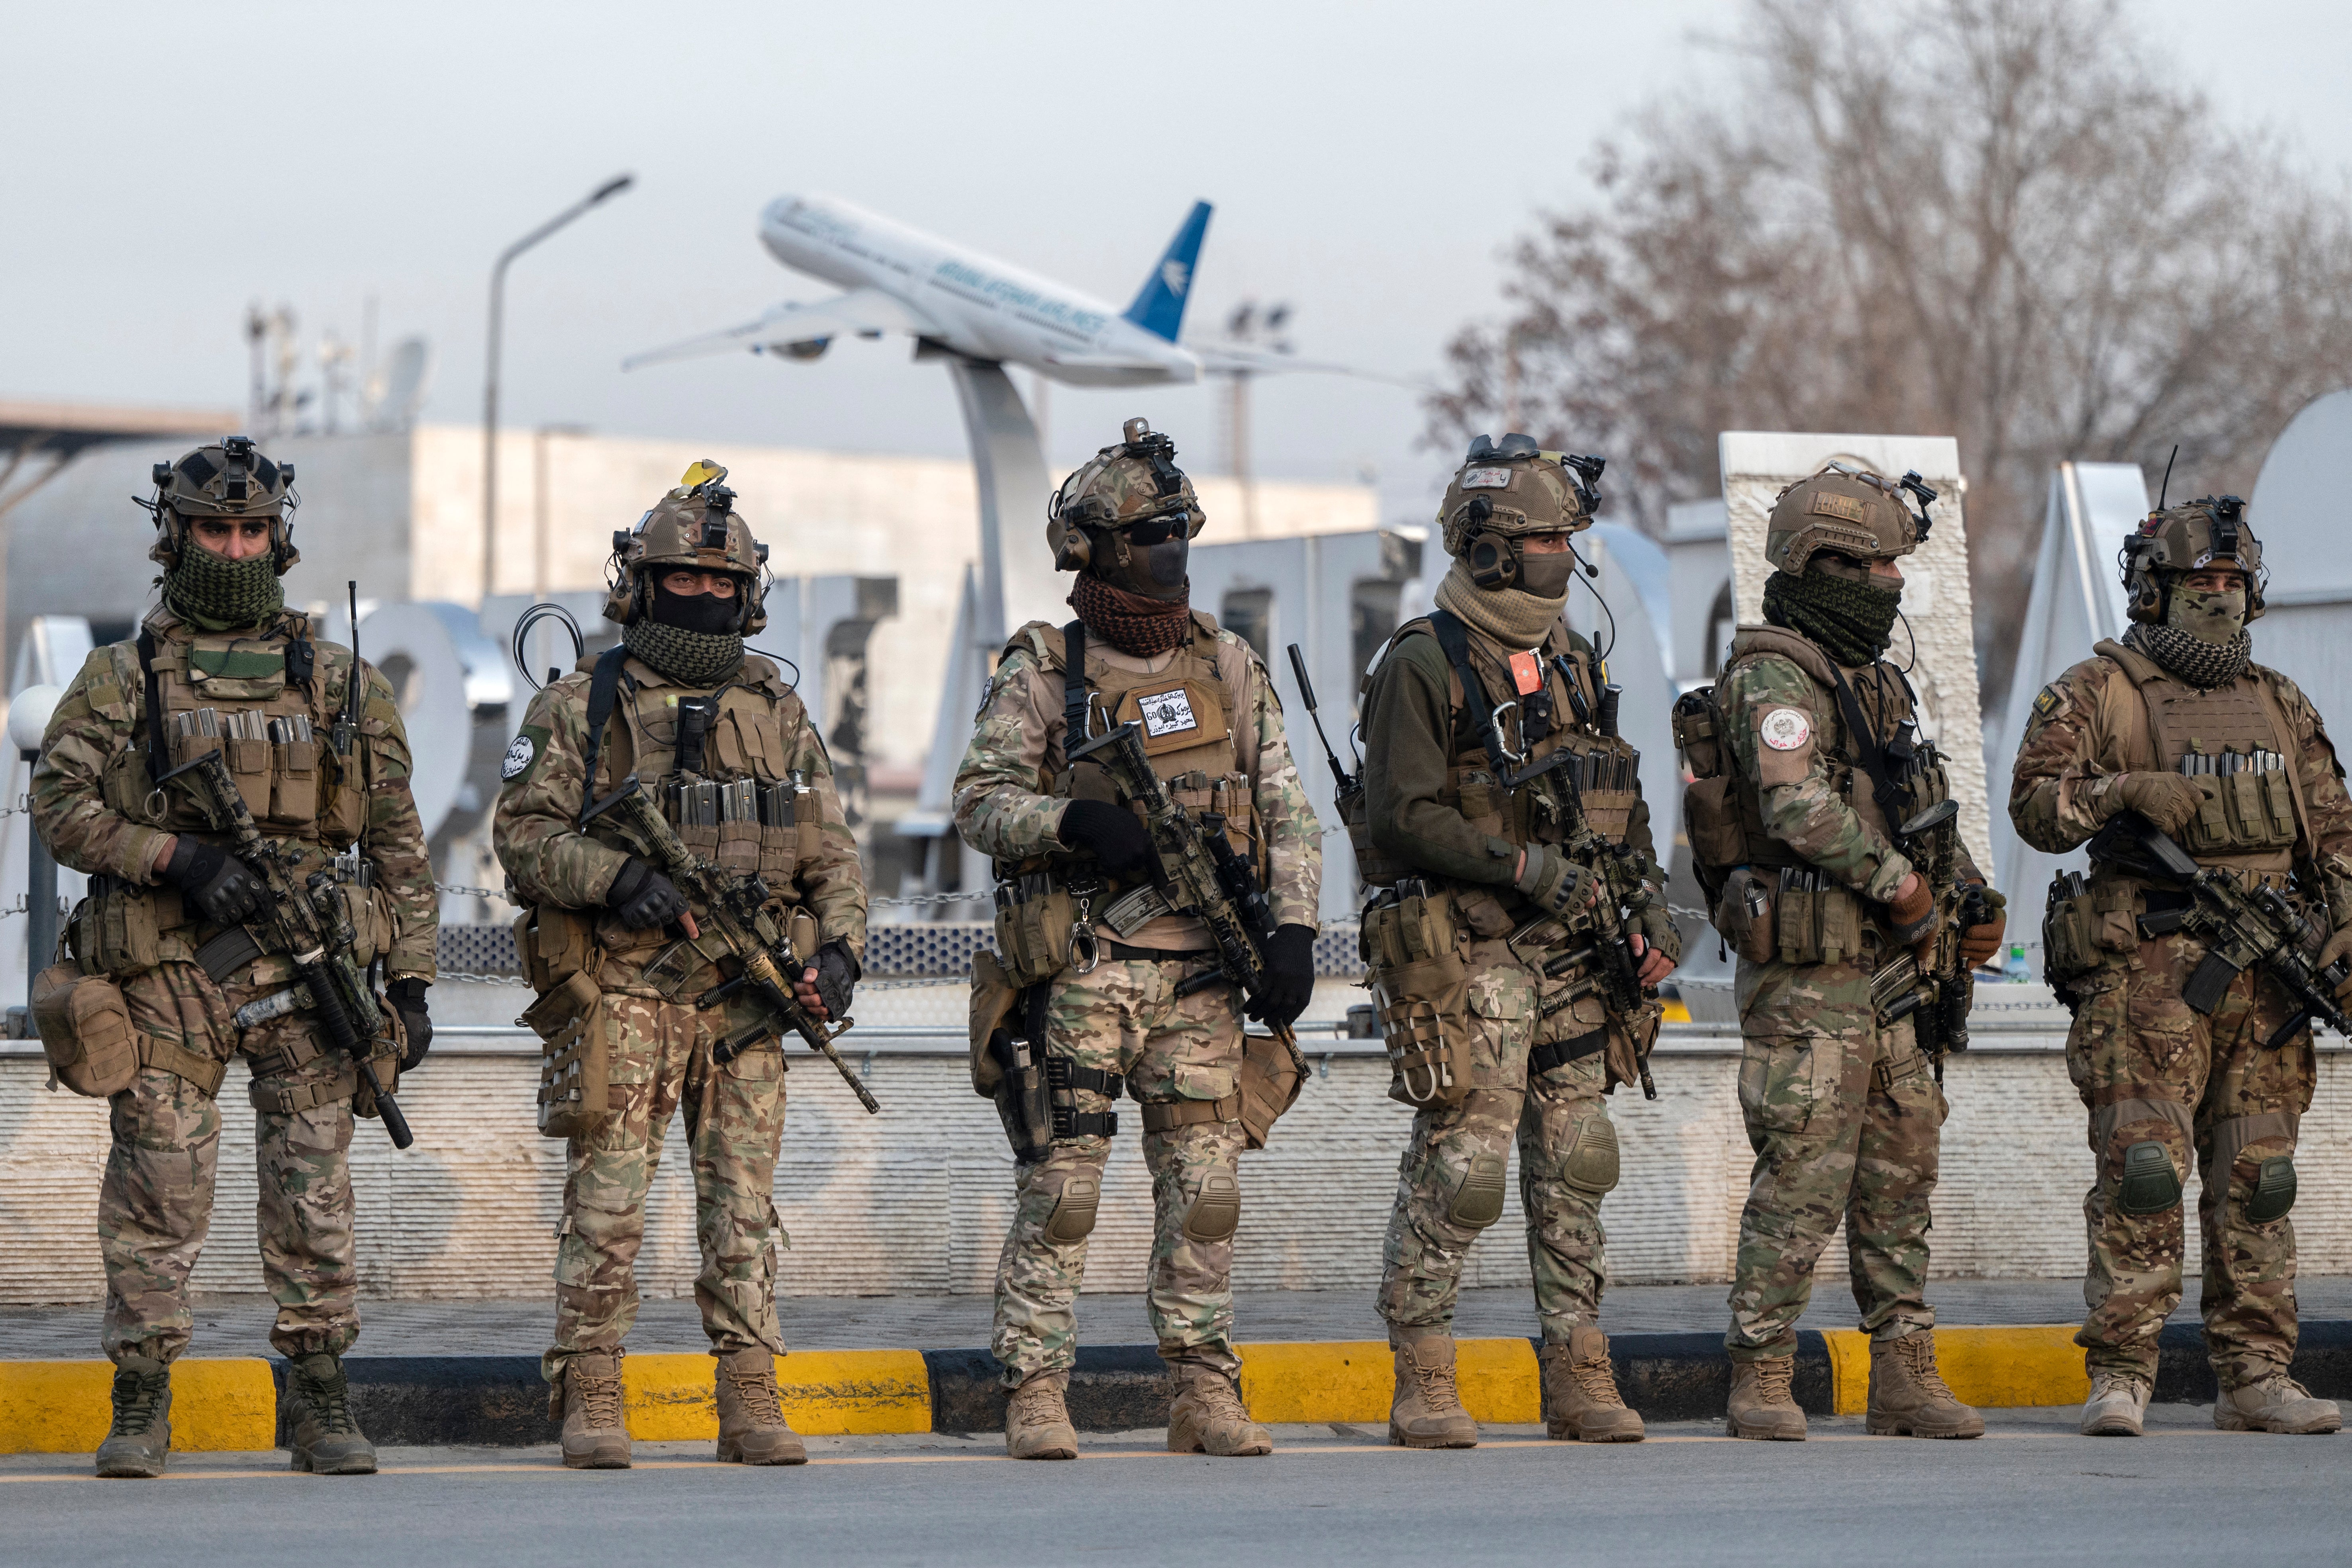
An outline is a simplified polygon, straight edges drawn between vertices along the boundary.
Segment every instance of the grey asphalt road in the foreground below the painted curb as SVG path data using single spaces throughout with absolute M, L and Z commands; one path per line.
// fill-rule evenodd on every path
M 294 1476 L 285 1455 L 181 1455 L 160 1483 L 92 1481 L 85 1455 L 0 1460 L 12 1563 L 176 1568 L 416 1563 L 1183 1563 L 1592 1561 L 2065 1563 L 2343 1561 L 2352 1439 L 2232 1436 L 2157 1406 L 2138 1441 L 2072 1410 L 2004 1410 L 1976 1443 L 1809 1443 L 1653 1429 L 1637 1448 L 1489 1429 L 1472 1453 L 1404 1453 L 1378 1429 L 1282 1427 L 1268 1460 L 1087 1439 L 1075 1465 L 1014 1465 L 995 1439 L 818 1439 L 804 1469 L 640 1448 L 628 1474 L 548 1450 L 400 1448 L 374 1479 Z

